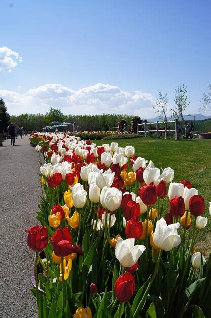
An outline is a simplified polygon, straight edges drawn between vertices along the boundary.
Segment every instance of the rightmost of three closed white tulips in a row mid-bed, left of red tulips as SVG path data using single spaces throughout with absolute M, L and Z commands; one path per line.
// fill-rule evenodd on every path
M 100 194 L 100 202 L 103 208 L 107 208 L 109 211 L 113 212 L 117 210 L 122 201 L 122 192 L 114 187 L 105 186 Z

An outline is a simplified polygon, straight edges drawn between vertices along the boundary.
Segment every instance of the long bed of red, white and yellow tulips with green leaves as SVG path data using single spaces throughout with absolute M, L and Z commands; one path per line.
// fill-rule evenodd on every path
M 38 316 L 206 316 L 211 257 L 194 250 L 207 224 L 197 189 L 173 182 L 172 168 L 161 171 L 133 146 L 34 138 L 46 158 L 41 226 L 26 229 Z

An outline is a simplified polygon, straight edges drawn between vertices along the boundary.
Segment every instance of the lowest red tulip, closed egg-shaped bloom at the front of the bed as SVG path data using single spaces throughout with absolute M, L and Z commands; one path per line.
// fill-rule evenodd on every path
M 135 277 L 131 273 L 120 275 L 114 284 L 114 293 L 120 302 L 128 301 L 135 292 Z

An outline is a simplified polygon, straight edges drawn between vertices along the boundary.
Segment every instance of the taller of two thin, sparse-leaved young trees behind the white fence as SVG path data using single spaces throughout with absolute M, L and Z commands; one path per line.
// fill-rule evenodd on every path
M 190 104 L 187 97 L 187 86 L 180 85 L 175 88 L 175 108 L 171 108 L 172 116 L 174 119 L 180 119 L 184 121 L 183 115 L 186 107 Z

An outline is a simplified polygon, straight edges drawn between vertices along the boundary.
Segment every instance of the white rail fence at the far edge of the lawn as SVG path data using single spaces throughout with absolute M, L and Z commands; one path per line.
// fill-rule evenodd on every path
M 170 126 L 168 126 L 168 123 L 175 123 L 175 129 L 171 129 Z M 160 125 L 164 125 L 164 129 L 160 129 Z M 156 125 L 156 129 L 151 129 L 152 125 Z M 143 130 L 139 130 L 142 129 Z M 178 129 L 178 119 L 176 119 L 175 121 L 167 121 L 167 122 L 149 122 L 149 123 L 139 123 L 137 124 L 137 132 L 138 133 L 144 133 L 144 136 L 147 136 L 147 133 L 155 133 L 156 132 L 156 137 L 160 138 L 160 132 L 165 132 L 165 139 L 167 139 L 168 134 L 170 133 L 175 133 L 175 139 L 178 140 L 179 139 L 179 129 Z

